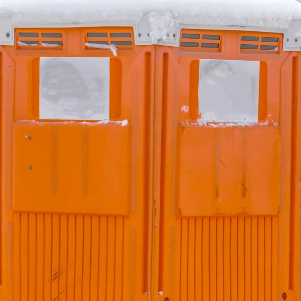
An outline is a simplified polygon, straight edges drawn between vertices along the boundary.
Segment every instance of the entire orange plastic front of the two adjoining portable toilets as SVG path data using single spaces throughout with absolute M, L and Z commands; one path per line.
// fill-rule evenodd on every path
M 17 29 L 0 48 L 0 299 L 299 300 L 301 59 L 282 39 Z M 48 56 L 110 57 L 110 120 L 129 124 L 40 120 Z M 258 124 L 197 125 L 201 58 L 260 61 Z

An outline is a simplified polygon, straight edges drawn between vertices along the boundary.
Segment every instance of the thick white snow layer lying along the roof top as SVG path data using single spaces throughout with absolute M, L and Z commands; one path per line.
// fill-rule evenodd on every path
M 176 24 L 285 30 L 301 19 L 295 0 L 0 0 L 0 18 L 13 24 L 136 24 L 150 12 Z M 164 20 L 162 20 L 164 22 Z

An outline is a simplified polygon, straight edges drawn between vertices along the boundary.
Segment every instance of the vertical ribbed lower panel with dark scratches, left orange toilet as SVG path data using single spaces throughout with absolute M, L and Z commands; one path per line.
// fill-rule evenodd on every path
M 13 300 L 122 300 L 124 218 L 15 213 Z

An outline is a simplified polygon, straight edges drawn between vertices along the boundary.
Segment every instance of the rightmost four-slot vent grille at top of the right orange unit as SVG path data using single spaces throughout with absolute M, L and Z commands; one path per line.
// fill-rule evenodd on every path
M 280 39 L 274 37 L 260 37 L 260 36 L 242 36 L 240 50 L 241 52 L 252 51 L 274 51 L 278 52 Z

